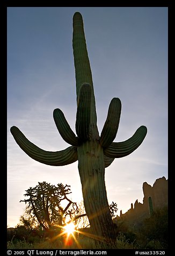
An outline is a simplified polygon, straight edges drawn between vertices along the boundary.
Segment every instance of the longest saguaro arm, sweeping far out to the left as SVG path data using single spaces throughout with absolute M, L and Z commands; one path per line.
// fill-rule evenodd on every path
M 62 151 L 45 151 L 29 141 L 16 126 L 10 129 L 16 143 L 29 157 L 51 166 L 64 166 L 78 160 L 77 148 L 70 146 Z

